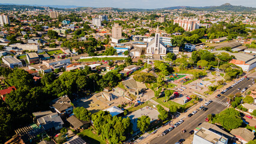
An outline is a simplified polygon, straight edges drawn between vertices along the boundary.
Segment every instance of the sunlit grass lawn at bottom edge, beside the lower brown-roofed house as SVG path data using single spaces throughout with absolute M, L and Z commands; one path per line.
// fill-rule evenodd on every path
M 78 136 L 81 136 L 82 139 L 85 140 L 85 142 L 88 143 L 95 143 L 95 144 L 106 144 L 105 140 L 102 140 L 100 136 L 97 134 L 94 134 L 92 129 L 87 129 L 82 131 L 81 133 L 78 134 Z

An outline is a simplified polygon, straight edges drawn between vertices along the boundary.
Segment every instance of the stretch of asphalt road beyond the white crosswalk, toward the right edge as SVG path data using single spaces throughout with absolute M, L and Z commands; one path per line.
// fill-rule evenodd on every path
M 228 90 L 227 92 L 225 92 L 223 95 L 228 96 L 231 94 L 237 94 L 238 92 L 241 92 L 243 88 L 249 88 L 249 85 L 253 85 L 252 84 L 252 77 L 249 77 L 249 80 L 244 79 L 242 82 L 238 83 L 237 85 L 235 85 L 233 88 L 231 88 L 230 90 Z M 240 88 L 241 90 L 237 90 L 237 88 Z

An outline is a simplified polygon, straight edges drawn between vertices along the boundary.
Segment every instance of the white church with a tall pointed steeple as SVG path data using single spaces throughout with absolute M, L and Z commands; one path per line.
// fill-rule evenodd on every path
M 156 35 L 154 39 L 148 43 L 145 56 L 153 59 L 162 59 L 166 56 L 166 53 L 166 47 L 165 44 L 160 41 L 159 26 L 157 26 Z

